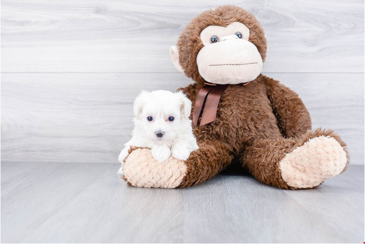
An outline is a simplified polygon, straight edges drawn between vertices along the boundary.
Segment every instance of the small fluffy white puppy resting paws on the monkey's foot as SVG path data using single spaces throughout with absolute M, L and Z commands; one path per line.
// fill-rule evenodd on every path
M 187 160 L 198 149 L 189 115 L 191 101 L 182 92 L 153 91 L 142 93 L 133 105 L 135 118 L 132 139 L 124 144 L 119 161 L 127 156 L 130 146 L 148 147 L 160 162 L 172 157 Z M 118 174 L 122 175 L 122 167 Z

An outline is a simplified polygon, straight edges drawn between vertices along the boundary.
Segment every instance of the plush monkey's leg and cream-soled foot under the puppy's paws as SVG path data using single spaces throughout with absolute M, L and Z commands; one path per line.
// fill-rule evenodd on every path
M 133 186 L 183 188 L 212 178 L 233 160 L 230 147 L 222 142 L 207 140 L 198 145 L 186 161 L 170 156 L 162 163 L 148 148 L 132 149 L 124 160 L 122 178 Z

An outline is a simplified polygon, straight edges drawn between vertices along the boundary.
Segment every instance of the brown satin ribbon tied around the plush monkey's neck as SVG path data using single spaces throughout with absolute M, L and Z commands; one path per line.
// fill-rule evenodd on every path
M 248 83 L 249 82 L 240 85 L 247 85 Z M 198 125 L 200 116 L 202 116 L 202 119 L 199 126 L 215 121 L 219 100 L 221 99 L 224 90 L 228 87 L 228 85 L 217 85 L 207 82 L 204 84 L 205 86 L 200 89 L 195 100 L 193 113 L 193 122 L 195 126 Z

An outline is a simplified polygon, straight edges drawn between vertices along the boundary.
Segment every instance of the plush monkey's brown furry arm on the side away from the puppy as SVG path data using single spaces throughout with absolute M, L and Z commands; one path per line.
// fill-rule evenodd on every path
M 263 76 L 267 97 L 285 138 L 300 137 L 312 127 L 308 110 L 298 94 L 271 78 Z

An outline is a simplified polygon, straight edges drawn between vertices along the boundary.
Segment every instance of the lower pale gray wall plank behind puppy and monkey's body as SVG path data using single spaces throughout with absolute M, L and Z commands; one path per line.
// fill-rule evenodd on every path
M 313 128 L 338 132 L 351 163 L 364 164 L 363 74 L 266 74 L 303 99 Z M 2 74 L 1 160 L 117 162 L 142 89 L 176 90 L 179 73 Z

